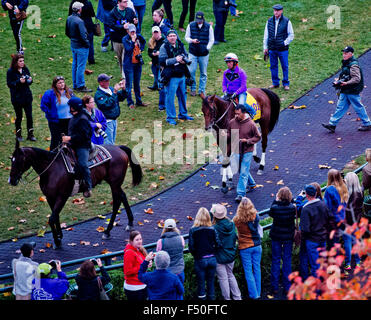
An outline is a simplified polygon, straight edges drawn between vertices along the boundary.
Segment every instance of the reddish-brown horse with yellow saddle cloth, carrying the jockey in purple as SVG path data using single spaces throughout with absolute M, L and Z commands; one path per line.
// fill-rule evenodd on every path
M 254 145 L 254 160 L 260 163 L 258 174 L 263 174 L 265 166 L 265 152 L 268 145 L 268 134 L 272 132 L 277 124 L 281 102 L 276 93 L 264 88 L 249 88 L 250 93 L 256 100 L 261 109 L 261 118 L 257 122 L 260 124 L 262 135 L 262 156 L 257 156 L 256 145 Z M 202 112 L 205 118 L 205 130 L 214 129 L 217 143 L 219 145 L 219 131 L 227 129 L 228 123 L 234 118 L 234 103 L 218 97 L 217 95 L 204 96 L 202 98 Z M 231 170 L 229 170 L 231 172 Z M 228 174 L 230 176 L 230 174 Z

